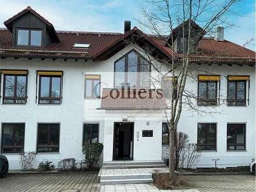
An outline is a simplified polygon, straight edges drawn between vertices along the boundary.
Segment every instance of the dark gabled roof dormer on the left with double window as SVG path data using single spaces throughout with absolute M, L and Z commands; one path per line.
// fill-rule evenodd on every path
M 28 6 L 4 22 L 13 47 L 47 47 L 59 42 L 54 26 Z

